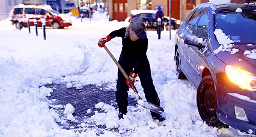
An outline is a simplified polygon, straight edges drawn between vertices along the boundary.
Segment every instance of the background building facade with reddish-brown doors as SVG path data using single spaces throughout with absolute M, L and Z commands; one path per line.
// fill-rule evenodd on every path
M 185 20 L 189 12 L 198 4 L 208 0 L 171 0 L 171 17 Z M 231 0 L 232 3 L 250 3 L 255 0 Z M 169 16 L 169 0 L 107 0 L 107 13 L 109 20 L 124 21 L 135 9 L 151 9 L 163 7 L 165 16 Z

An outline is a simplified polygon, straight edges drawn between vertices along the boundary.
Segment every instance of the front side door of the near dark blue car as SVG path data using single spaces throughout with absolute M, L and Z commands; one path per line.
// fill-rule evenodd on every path
M 200 80 L 200 65 L 198 62 L 202 60 L 203 53 L 206 50 L 206 43 L 208 42 L 208 15 L 207 12 L 202 12 L 198 23 L 194 29 L 193 35 L 200 39 L 199 43 L 204 45 L 202 48 L 198 48 L 195 46 L 190 46 L 188 48 L 190 65 L 192 66 L 191 69 L 188 70 L 188 75 L 191 78 L 192 83 L 197 87 Z M 198 42 L 198 41 L 197 41 Z

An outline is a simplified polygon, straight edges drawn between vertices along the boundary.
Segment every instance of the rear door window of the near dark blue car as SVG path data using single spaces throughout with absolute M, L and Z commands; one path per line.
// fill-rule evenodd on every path
M 201 11 L 196 11 L 191 18 L 189 19 L 189 22 L 187 23 L 186 29 L 189 31 L 189 33 L 194 34 L 194 30 L 196 27 L 196 22 L 201 14 Z

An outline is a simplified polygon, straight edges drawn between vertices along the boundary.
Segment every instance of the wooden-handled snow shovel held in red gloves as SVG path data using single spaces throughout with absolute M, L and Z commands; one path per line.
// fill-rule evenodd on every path
M 112 55 L 112 53 L 109 51 L 109 49 L 107 49 L 106 45 L 104 45 L 104 49 L 107 51 L 107 53 L 109 54 L 109 56 L 113 59 L 113 61 L 115 62 L 115 64 L 117 65 L 117 67 L 119 68 L 119 70 L 123 73 L 123 75 L 125 76 L 126 80 L 131 82 L 129 76 L 125 73 L 125 70 L 123 70 L 123 68 L 121 67 L 121 65 L 117 62 L 117 60 L 115 59 L 115 57 Z M 152 112 L 155 112 L 157 114 L 162 114 L 164 112 L 164 109 L 161 108 L 160 106 L 157 106 L 153 103 L 150 102 L 143 102 L 142 98 L 139 96 L 139 92 L 137 91 L 137 89 L 135 88 L 135 86 L 133 84 L 131 84 L 131 87 L 133 89 L 133 92 L 135 92 L 137 100 L 138 100 L 138 104 L 141 105 L 143 108 L 146 108 L 148 110 L 151 110 Z

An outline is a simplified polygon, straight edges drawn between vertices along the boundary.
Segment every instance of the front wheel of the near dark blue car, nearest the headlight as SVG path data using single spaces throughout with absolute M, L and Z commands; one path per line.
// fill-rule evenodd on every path
M 196 103 L 200 117 L 207 125 L 228 128 L 228 125 L 222 123 L 216 114 L 218 106 L 212 76 L 202 78 L 197 89 Z

